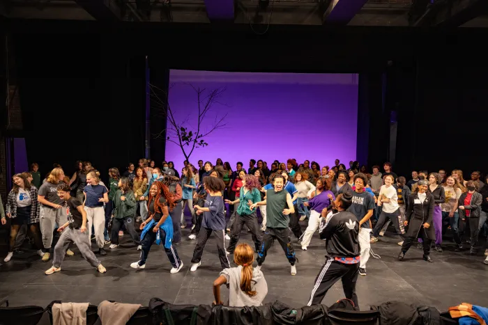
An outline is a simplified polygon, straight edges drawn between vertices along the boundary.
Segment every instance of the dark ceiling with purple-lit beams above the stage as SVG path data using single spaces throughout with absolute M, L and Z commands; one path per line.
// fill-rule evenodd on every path
M 3 0 L 0 15 L 24 19 L 488 27 L 487 0 Z

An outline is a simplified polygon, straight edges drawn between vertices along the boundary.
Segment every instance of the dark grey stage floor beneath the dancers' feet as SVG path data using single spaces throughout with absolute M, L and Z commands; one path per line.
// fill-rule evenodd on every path
M 185 266 L 178 274 L 170 274 L 171 264 L 161 247 L 153 246 L 146 269 L 130 268 L 131 262 L 139 260 L 139 252 L 125 235 L 119 246 L 108 250 L 108 255 L 99 257 L 107 268 L 106 274 L 90 267 L 76 247 L 75 256 L 66 257 L 62 271 L 45 276 L 51 261 L 41 262 L 40 257 L 29 253 L 14 255 L 13 260 L 3 262 L 0 267 L 0 300 L 8 299 L 10 306 L 47 306 L 53 300 L 86 302 L 98 304 L 103 300 L 148 305 L 149 299 L 158 297 L 170 303 L 211 304 L 213 301 L 213 280 L 220 272 L 215 240 L 211 238 L 204 251 L 201 267 L 190 272 L 190 260 L 196 241 L 188 239 L 189 230 L 183 230 L 183 243 L 177 247 Z M 477 256 L 468 251 L 455 253 L 451 243 L 445 244 L 443 253 L 432 252 L 433 264 L 422 260 L 422 252 L 412 248 L 403 262 L 397 261 L 399 246 L 395 237 L 387 232 L 386 237 L 372 244 L 374 253 L 381 259 L 370 258 L 367 276 L 359 276 L 356 291 L 362 310 L 369 305 L 384 301 L 404 301 L 435 306 L 447 310 L 462 302 L 488 306 L 486 287 L 488 266 L 482 263 L 482 252 Z M 251 244 L 247 232 L 241 241 Z M 314 235 L 308 251 L 302 251 L 293 238 L 298 257 L 296 276 L 291 276 L 289 263 L 279 244 L 275 243 L 268 253 L 262 271 L 268 283 L 265 303 L 280 300 L 292 307 L 304 306 L 310 296 L 314 279 L 324 262 L 324 241 Z M 228 241 L 227 241 L 228 244 Z M 93 243 L 93 249 L 95 249 Z M 2 259 L 6 247 L 1 247 Z M 229 255 L 231 265 L 232 255 Z M 227 301 L 228 290 L 222 287 L 223 301 Z M 344 298 L 340 281 L 328 292 L 323 304 L 330 306 Z

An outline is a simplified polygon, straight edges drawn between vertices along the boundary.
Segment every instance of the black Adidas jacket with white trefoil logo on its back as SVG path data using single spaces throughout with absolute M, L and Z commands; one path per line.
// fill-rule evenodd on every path
M 359 256 L 359 222 L 354 214 L 341 211 L 322 220 L 320 238 L 327 239 L 327 257 Z

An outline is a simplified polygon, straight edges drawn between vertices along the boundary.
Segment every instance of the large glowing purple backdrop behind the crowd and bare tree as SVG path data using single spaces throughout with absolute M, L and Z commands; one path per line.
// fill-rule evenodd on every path
M 189 85 L 212 90 L 225 87 L 208 113 L 204 128 L 228 113 L 225 127 L 206 136 L 208 146 L 197 148 L 190 162 L 295 158 L 333 165 L 356 159 L 358 116 L 357 74 L 288 74 L 171 70 L 169 105 L 176 120 L 196 126 L 197 94 Z M 169 125 L 169 123 L 168 123 Z M 170 136 L 170 134 L 169 134 Z M 166 160 L 178 171 L 185 160 L 181 148 L 167 141 Z

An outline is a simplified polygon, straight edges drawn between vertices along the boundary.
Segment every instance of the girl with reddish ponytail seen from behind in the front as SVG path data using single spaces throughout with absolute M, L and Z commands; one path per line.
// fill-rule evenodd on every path
M 234 251 L 234 263 L 237 267 L 224 269 L 213 282 L 214 303 L 222 305 L 220 286 L 229 288 L 229 306 L 262 306 L 268 294 L 268 284 L 261 270 L 254 269 L 254 249 L 247 244 L 239 244 Z

